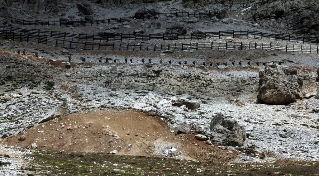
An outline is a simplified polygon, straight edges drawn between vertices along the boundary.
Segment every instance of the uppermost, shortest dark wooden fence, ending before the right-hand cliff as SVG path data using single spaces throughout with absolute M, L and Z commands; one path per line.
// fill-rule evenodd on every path
M 143 18 L 136 19 L 138 21 L 145 21 L 150 19 L 158 19 L 160 15 L 165 15 L 167 17 L 198 17 L 207 18 L 211 17 L 211 11 L 199 11 L 199 12 L 175 12 L 175 13 L 161 13 L 154 15 L 146 15 Z M 106 24 L 112 23 L 122 23 L 125 21 L 131 21 L 133 17 L 122 17 L 122 18 L 108 18 L 102 20 L 93 21 L 78 21 L 78 20 L 67 20 L 67 21 L 46 21 L 46 20 L 24 20 L 18 18 L 10 18 L 12 24 L 18 25 L 42 25 L 42 26 L 104 26 Z

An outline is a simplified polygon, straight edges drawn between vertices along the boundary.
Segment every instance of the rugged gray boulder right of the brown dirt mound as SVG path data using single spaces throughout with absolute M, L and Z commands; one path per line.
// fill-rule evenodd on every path
M 246 131 L 240 127 L 238 122 L 224 114 L 217 114 L 211 119 L 209 129 L 211 136 L 220 138 L 223 143 L 231 146 L 242 146 L 246 140 Z

